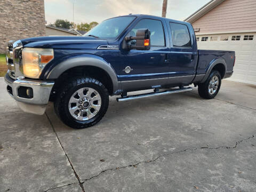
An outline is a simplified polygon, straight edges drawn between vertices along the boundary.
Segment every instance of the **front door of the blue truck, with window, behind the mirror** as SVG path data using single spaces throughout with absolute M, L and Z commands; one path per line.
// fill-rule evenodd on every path
M 138 29 L 150 30 L 150 50 L 121 50 L 121 70 L 118 80 L 125 91 L 150 89 L 153 86 L 166 85 L 169 74 L 167 62 L 167 30 L 164 23 L 157 19 L 141 19 L 126 34 L 135 36 Z M 169 40 L 169 39 L 168 39 Z M 135 45 L 135 40 L 130 42 Z M 169 41 L 167 41 L 169 43 Z M 129 68 L 130 70 L 125 70 Z

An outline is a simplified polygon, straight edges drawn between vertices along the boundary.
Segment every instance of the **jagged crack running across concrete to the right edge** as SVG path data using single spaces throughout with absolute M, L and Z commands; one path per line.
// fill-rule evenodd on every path
M 142 162 L 139 162 L 139 163 L 136 163 L 136 164 L 131 164 L 131 165 L 126 165 L 126 166 L 122 166 L 122 167 L 115 167 L 115 168 L 111 168 L 111 169 L 106 169 L 106 170 L 103 170 L 101 171 L 100 173 L 98 173 L 97 175 L 93 175 L 91 178 L 88 178 L 88 179 L 84 179 L 83 183 L 85 183 L 86 181 L 89 181 L 93 178 L 97 178 L 100 174 L 106 172 L 106 171 L 114 171 L 114 170 L 119 170 L 119 169 L 125 169 L 126 167 L 131 167 L 131 166 L 137 166 L 141 163 L 150 163 L 150 162 L 155 162 L 157 161 L 157 159 L 161 158 L 161 157 L 164 157 L 164 156 L 168 156 L 168 155 L 172 155 L 172 154 L 178 154 L 178 153 L 183 153 L 183 152 L 186 152 L 186 151 L 193 151 L 193 150 L 199 150 L 199 149 L 222 149 L 222 148 L 226 148 L 226 149 L 234 149 L 236 148 L 239 143 L 243 142 L 243 141 L 246 141 L 246 140 L 249 140 L 249 139 L 252 139 L 254 138 L 255 135 L 253 134 L 251 137 L 249 138 L 246 138 L 246 139 L 243 139 L 243 140 L 239 140 L 239 141 L 236 141 L 236 144 L 235 146 L 220 146 L 220 147 L 199 147 L 199 148 L 194 148 L 194 149 L 190 149 L 190 148 L 187 148 L 187 149 L 183 149 L 183 150 L 179 150 L 179 151 L 174 151 L 172 153 L 167 153 L 167 154 L 163 154 L 163 155 L 160 155 L 158 157 L 156 157 L 155 159 L 152 159 L 152 160 L 149 160 L 149 161 L 142 161 Z

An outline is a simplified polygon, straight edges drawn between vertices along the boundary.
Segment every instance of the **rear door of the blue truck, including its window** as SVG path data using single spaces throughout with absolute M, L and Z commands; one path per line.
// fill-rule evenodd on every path
M 170 53 L 169 84 L 189 84 L 195 75 L 195 46 L 192 46 L 193 36 L 189 33 L 187 25 L 169 22 Z

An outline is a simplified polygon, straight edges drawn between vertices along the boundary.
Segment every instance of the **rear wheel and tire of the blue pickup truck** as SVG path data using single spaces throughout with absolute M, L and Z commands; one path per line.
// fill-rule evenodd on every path
M 213 99 L 219 92 L 221 76 L 219 71 L 212 70 L 204 83 L 198 84 L 198 94 L 204 99 Z

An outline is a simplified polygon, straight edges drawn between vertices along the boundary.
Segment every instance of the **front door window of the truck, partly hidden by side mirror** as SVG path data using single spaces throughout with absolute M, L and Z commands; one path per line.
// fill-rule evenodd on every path
M 130 31 L 127 36 L 136 36 L 138 29 L 150 30 L 150 45 L 151 46 L 165 46 L 164 30 L 162 22 L 154 19 L 142 19 L 137 25 Z M 133 40 L 131 44 L 135 44 Z

